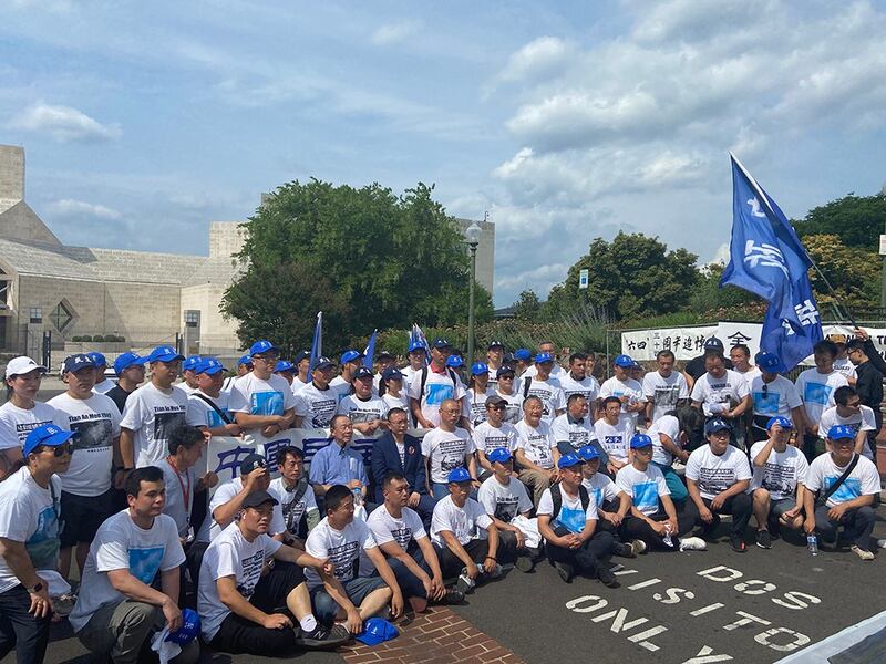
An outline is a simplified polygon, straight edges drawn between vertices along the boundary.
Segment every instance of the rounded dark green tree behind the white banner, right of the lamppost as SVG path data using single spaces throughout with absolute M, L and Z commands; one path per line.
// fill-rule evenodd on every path
M 671 313 L 686 308 L 699 274 L 698 257 L 643 234 L 619 232 L 611 242 L 597 238 L 578 259 L 566 281 L 550 291 L 549 315 L 562 317 L 584 301 L 615 320 Z M 589 272 L 588 288 L 578 289 L 579 271 Z

